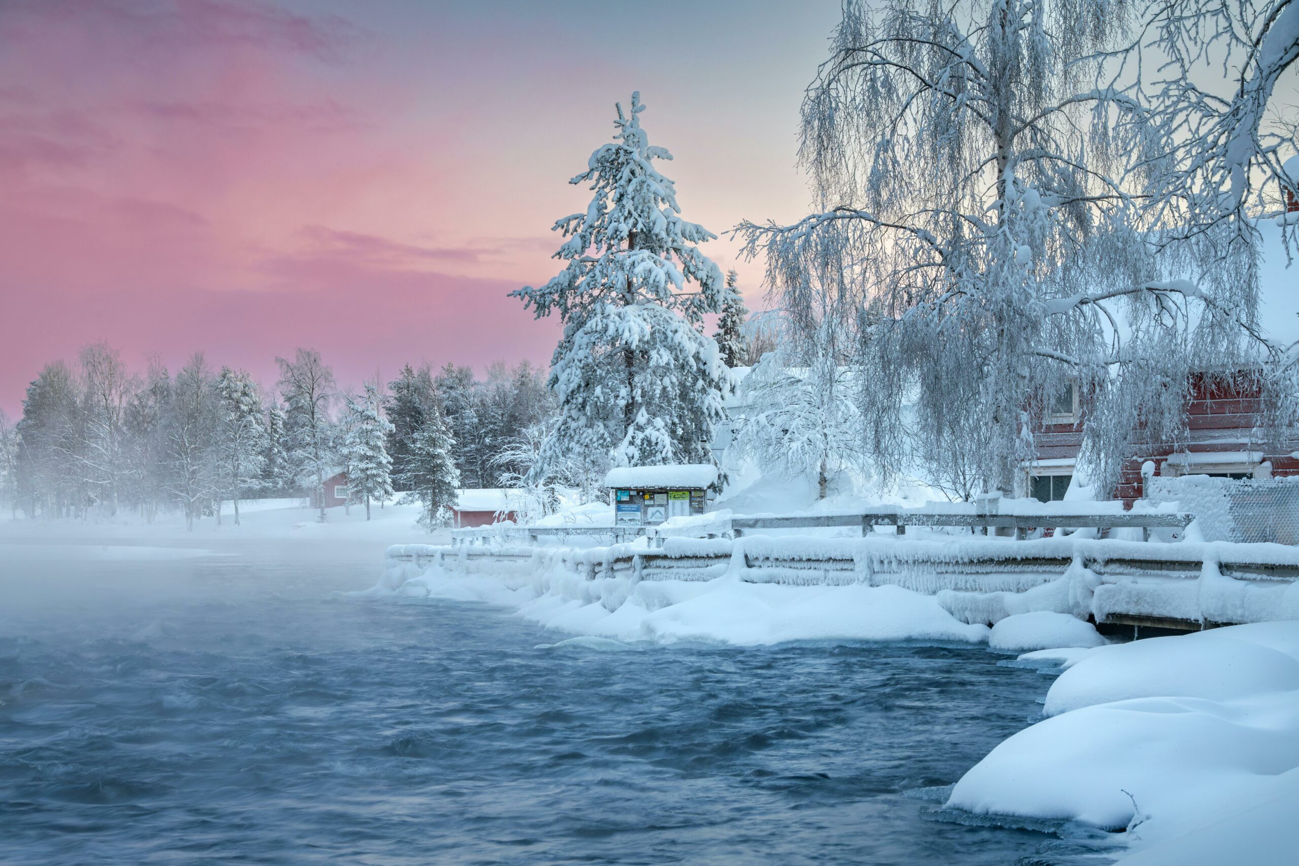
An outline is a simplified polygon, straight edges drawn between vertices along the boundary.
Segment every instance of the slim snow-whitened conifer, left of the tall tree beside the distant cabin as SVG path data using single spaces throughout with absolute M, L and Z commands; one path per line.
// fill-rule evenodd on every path
M 239 500 L 261 483 L 266 461 L 266 428 L 261 425 L 261 395 L 247 371 L 221 367 L 217 377 L 217 475 L 218 500 L 230 499 L 239 526 Z M 217 505 L 220 522 L 221 506 Z

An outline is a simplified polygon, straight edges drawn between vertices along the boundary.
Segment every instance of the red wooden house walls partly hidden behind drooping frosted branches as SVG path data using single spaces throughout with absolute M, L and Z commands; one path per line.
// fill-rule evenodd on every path
M 1028 491 L 1042 500 L 1064 499 L 1082 445 L 1086 408 L 1076 387 L 1061 395 L 1034 431 L 1038 458 L 1028 467 Z M 1248 375 L 1194 374 L 1189 383 L 1187 438 L 1185 443 L 1141 441 L 1134 436 L 1133 456 L 1124 461 L 1115 499 L 1129 505 L 1142 496 L 1141 467 L 1155 462 L 1157 475 L 1217 475 L 1268 478 L 1299 475 L 1299 443 L 1268 449 L 1257 439 L 1263 422 L 1257 384 Z M 1273 453 L 1276 451 L 1276 453 Z

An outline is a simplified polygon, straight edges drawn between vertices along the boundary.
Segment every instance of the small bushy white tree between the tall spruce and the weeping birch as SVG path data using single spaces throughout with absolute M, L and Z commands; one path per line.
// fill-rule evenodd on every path
M 744 417 L 735 444 L 764 473 L 809 478 L 825 499 L 830 476 L 863 467 L 861 415 L 853 374 L 834 352 L 834 322 L 818 339 L 783 343 L 740 386 Z

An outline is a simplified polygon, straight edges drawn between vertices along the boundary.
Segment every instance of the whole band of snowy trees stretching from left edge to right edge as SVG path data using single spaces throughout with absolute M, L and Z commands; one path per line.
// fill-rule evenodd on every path
M 544 513 L 609 466 L 721 465 L 720 425 L 822 497 L 844 473 L 1015 495 L 1072 388 L 1104 499 L 1137 438 L 1185 440 L 1205 371 L 1252 379 L 1251 435 L 1281 448 L 1299 380 L 1259 321 L 1260 226 L 1295 249 L 1299 114 L 1273 90 L 1296 56 L 1283 0 L 850 0 L 801 106 L 813 212 L 730 229 L 765 265 L 760 314 L 682 217 L 633 93 L 570 179 L 591 195 L 553 225 L 561 270 L 513 292 L 564 326 L 548 373 L 408 366 L 351 392 L 299 349 L 268 388 L 96 344 L 0 421 L 0 497 L 192 519 L 346 470 L 366 508 L 400 491 L 433 519 L 457 487 L 516 487 Z

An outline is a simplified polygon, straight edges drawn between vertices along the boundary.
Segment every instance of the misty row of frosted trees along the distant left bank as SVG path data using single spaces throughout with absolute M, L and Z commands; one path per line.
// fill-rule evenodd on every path
M 498 487 L 526 473 L 512 445 L 555 413 L 544 373 L 526 361 L 495 364 L 485 379 L 407 365 L 360 393 L 339 388 L 314 351 L 277 362 L 274 388 L 203 353 L 174 374 L 156 358 L 132 371 L 103 343 L 45 365 L 22 418 L 0 413 L 0 502 L 16 517 L 179 510 L 192 522 L 222 501 L 305 496 L 342 470 L 368 504 L 427 480 L 421 432 L 426 451 L 446 454 L 429 484 Z

